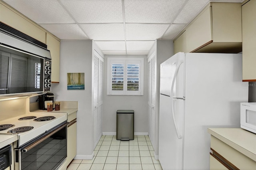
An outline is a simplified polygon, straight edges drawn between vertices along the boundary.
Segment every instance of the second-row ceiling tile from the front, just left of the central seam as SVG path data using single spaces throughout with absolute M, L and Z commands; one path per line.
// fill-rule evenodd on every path
M 124 40 L 124 24 L 80 24 L 92 40 Z

